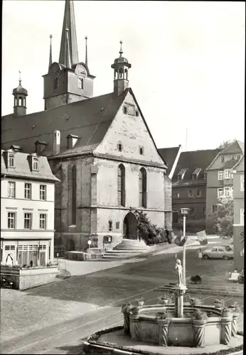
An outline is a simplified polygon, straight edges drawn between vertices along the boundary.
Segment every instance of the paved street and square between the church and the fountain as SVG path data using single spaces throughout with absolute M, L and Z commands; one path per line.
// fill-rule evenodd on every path
M 188 247 L 188 278 L 200 273 L 204 283 L 225 285 L 226 273 L 233 268 L 232 261 L 199 263 L 196 249 L 197 246 Z M 177 256 L 181 258 L 181 252 Z M 1 290 L 2 295 L 9 292 L 8 297 L 1 300 L 1 353 L 78 354 L 82 339 L 89 334 L 122 323 L 120 307 L 126 298 L 134 301 L 142 295 L 146 303 L 156 303 L 160 293 L 153 288 L 176 278 L 174 261 L 175 253 L 169 252 L 138 263 L 73 276 L 22 293 Z M 21 302 L 18 303 L 19 295 L 25 297 L 24 312 L 20 308 Z M 218 296 L 198 293 L 196 297 L 209 305 Z M 237 300 L 243 310 L 242 298 L 223 298 L 227 305 Z M 33 302 L 36 302 L 36 311 Z

